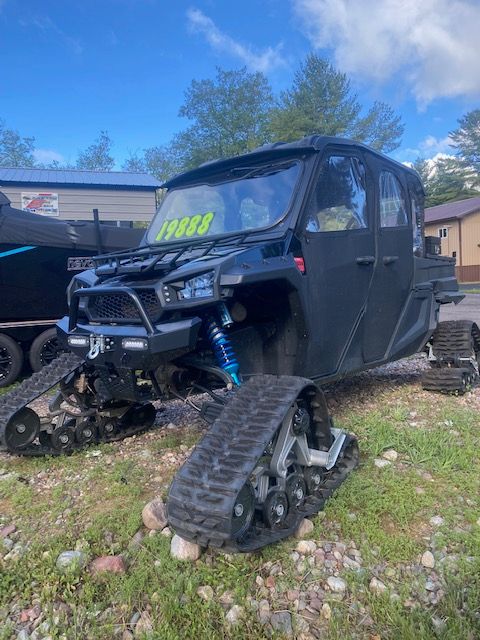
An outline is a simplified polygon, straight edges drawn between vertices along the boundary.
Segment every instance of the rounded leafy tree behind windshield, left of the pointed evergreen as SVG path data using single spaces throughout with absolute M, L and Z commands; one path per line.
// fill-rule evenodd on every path
M 198 166 L 207 160 L 251 151 L 267 140 L 272 92 L 262 73 L 246 68 L 224 71 L 215 79 L 193 80 L 179 115 L 192 125 L 170 146 L 173 165 Z

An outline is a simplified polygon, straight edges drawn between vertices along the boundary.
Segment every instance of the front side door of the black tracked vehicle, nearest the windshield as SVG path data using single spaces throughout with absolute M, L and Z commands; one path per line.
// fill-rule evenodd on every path
M 359 333 L 375 262 L 369 192 L 362 153 L 327 148 L 302 222 L 308 326 L 304 375 L 334 376 L 355 368 L 346 355 Z

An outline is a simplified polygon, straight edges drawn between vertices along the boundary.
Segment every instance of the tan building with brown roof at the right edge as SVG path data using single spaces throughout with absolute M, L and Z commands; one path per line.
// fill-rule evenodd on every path
M 459 282 L 480 282 L 480 196 L 425 209 L 425 235 L 457 260 Z

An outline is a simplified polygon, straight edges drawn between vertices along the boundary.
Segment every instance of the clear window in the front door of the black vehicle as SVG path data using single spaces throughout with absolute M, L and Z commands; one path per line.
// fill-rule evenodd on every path
M 307 207 L 307 231 L 328 232 L 368 226 L 365 167 L 353 156 L 330 156 Z

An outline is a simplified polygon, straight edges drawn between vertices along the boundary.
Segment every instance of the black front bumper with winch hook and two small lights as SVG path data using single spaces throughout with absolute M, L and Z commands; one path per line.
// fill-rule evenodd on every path
M 151 330 L 138 325 L 92 325 L 81 322 L 70 329 L 71 319 L 65 316 L 57 323 L 57 332 L 61 343 L 89 364 L 151 370 L 161 362 L 192 351 L 197 344 L 201 324 L 200 318 L 193 317 L 152 324 Z M 75 345 L 71 340 L 69 342 L 69 337 L 80 340 L 76 340 Z M 85 344 L 78 345 L 82 338 L 85 338 Z M 144 348 L 125 347 L 129 339 L 137 344 L 143 343 Z M 96 348 L 92 349 L 92 345 Z

